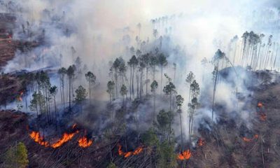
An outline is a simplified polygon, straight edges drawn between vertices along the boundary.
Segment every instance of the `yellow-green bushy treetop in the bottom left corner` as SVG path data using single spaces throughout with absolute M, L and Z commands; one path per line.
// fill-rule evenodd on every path
M 12 146 L 6 151 L 5 167 L 7 168 L 25 168 L 29 164 L 29 160 L 27 158 L 27 148 L 25 144 L 22 142 L 18 143 L 17 146 Z

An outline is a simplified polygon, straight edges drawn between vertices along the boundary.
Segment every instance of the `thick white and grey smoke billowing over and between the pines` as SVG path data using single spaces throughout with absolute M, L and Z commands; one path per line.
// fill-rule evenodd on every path
M 177 92 L 185 98 L 182 116 L 185 121 L 183 129 L 187 132 L 188 85 L 185 83 L 187 73 L 189 71 L 195 73 L 195 79 L 201 88 L 200 102 L 203 107 L 197 111 L 195 118 L 197 126 L 204 122 L 204 118 L 211 118 L 213 99 L 211 72 L 214 68 L 211 64 L 202 66 L 201 60 L 206 57 L 210 61 L 218 48 L 227 54 L 228 43 L 232 37 L 241 36 L 244 31 L 253 30 L 277 35 L 278 31 L 274 27 L 260 26 L 260 22 L 264 20 L 260 16 L 267 13 L 267 10 L 276 13 L 277 7 L 278 1 L 268 0 L 13 1 L 12 4 L 7 3 L 0 8 L 0 11 L 15 13 L 17 16 L 13 38 L 36 41 L 39 45 L 28 52 L 16 52 L 15 58 L 8 63 L 5 72 L 67 67 L 75 62 L 76 57 L 80 57 L 83 64 L 87 64 L 88 69 L 97 74 L 99 85 L 94 92 L 94 99 L 106 100 L 108 62 L 120 56 L 128 61 L 132 55 L 127 48 L 131 46 L 141 48 L 137 46 L 136 36 L 139 36 L 141 42 L 146 43 L 141 48 L 142 52 L 155 50 L 155 46 L 161 43 L 160 51 L 169 55 L 167 58 L 169 65 L 164 73 L 173 78 L 172 64 L 177 65 L 174 83 Z M 151 20 L 158 22 L 153 24 Z M 138 23 L 141 23 L 141 29 L 137 27 Z M 162 36 L 162 41 L 154 41 L 153 29 L 157 29 L 158 37 Z M 227 80 L 221 77 L 219 81 L 216 104 L 223 105 L 228 116 L 232 118 L 239 116 L 245 122 L 250 118 L 249 114 L 253 109 L 244 104 L 249 98 L 244 102 L 239 101 L 237 92 L 241 92 L 245 97 L 251 94 L 244 85 L 248 73 L 238 71 L 238 77 L 233 69 L 227 73 Z M 160 79 L 159 74 L 160 70 L 157 69 L 157 80 Z M 85 84 L 85 80 L 81 80 L 80 84 Z M 141 105 L 137 109 L 138 112 L 132 116 L 144 118 L 146 113 L 151 113 L 151 104 L 148 104 Z M 157 106 L 166 105 L 157 102 Z M 217 111 L 214 113 L 215 120 L 216 116 Z M 146 119 L 143 121 L 148 122 Z M 250 127 L 249 122 L 247 124 Z

